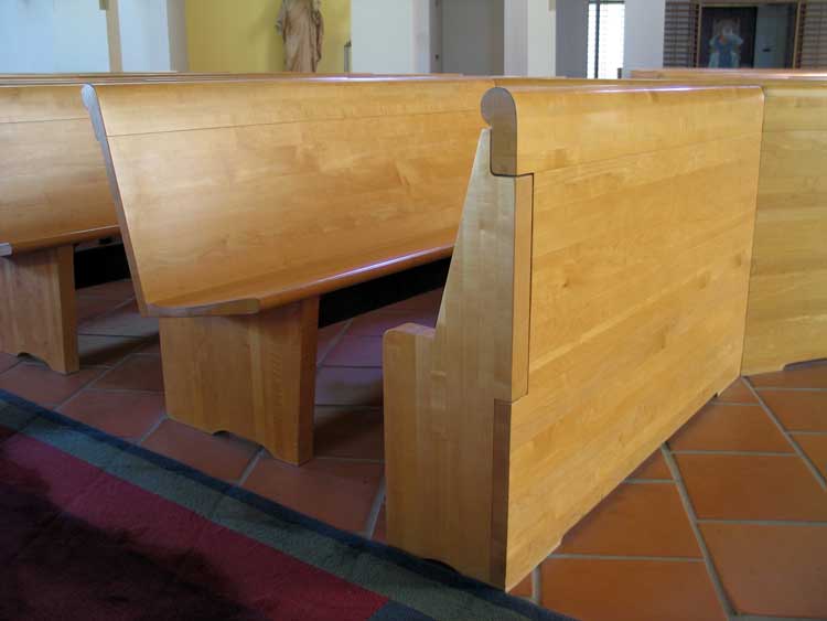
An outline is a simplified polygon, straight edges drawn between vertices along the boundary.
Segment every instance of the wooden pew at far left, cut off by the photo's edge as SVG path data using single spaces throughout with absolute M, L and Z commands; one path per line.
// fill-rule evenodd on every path
M 89 79 L 246 78 L 163 73 L 0 79 L 0 351 L 29 353 L 61 373 L 79 368 L 73 246 L 119 234 L 104 159 L 80 98 L 80 86 Z

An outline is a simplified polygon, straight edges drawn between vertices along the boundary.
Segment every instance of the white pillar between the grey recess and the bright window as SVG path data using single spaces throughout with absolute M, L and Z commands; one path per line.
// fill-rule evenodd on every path
M 555 0 L 505 2 L 505 74 L 555 75 Z

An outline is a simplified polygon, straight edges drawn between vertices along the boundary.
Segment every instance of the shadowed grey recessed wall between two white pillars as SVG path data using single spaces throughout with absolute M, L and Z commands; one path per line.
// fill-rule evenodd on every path
M 442 0 L 442 71 L 502 75 L 504 1 Z

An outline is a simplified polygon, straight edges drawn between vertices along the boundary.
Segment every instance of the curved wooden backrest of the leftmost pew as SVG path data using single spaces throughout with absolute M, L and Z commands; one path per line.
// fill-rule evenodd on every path
M 117 235 L 78 85 L 0 85 L 0 255 Z

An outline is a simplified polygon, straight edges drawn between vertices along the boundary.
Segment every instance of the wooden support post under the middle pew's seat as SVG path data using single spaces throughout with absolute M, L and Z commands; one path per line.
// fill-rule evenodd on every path
M 250 315 L 161 318 L 169 415 L 308 461 L 318 319 L 319 298 Z

